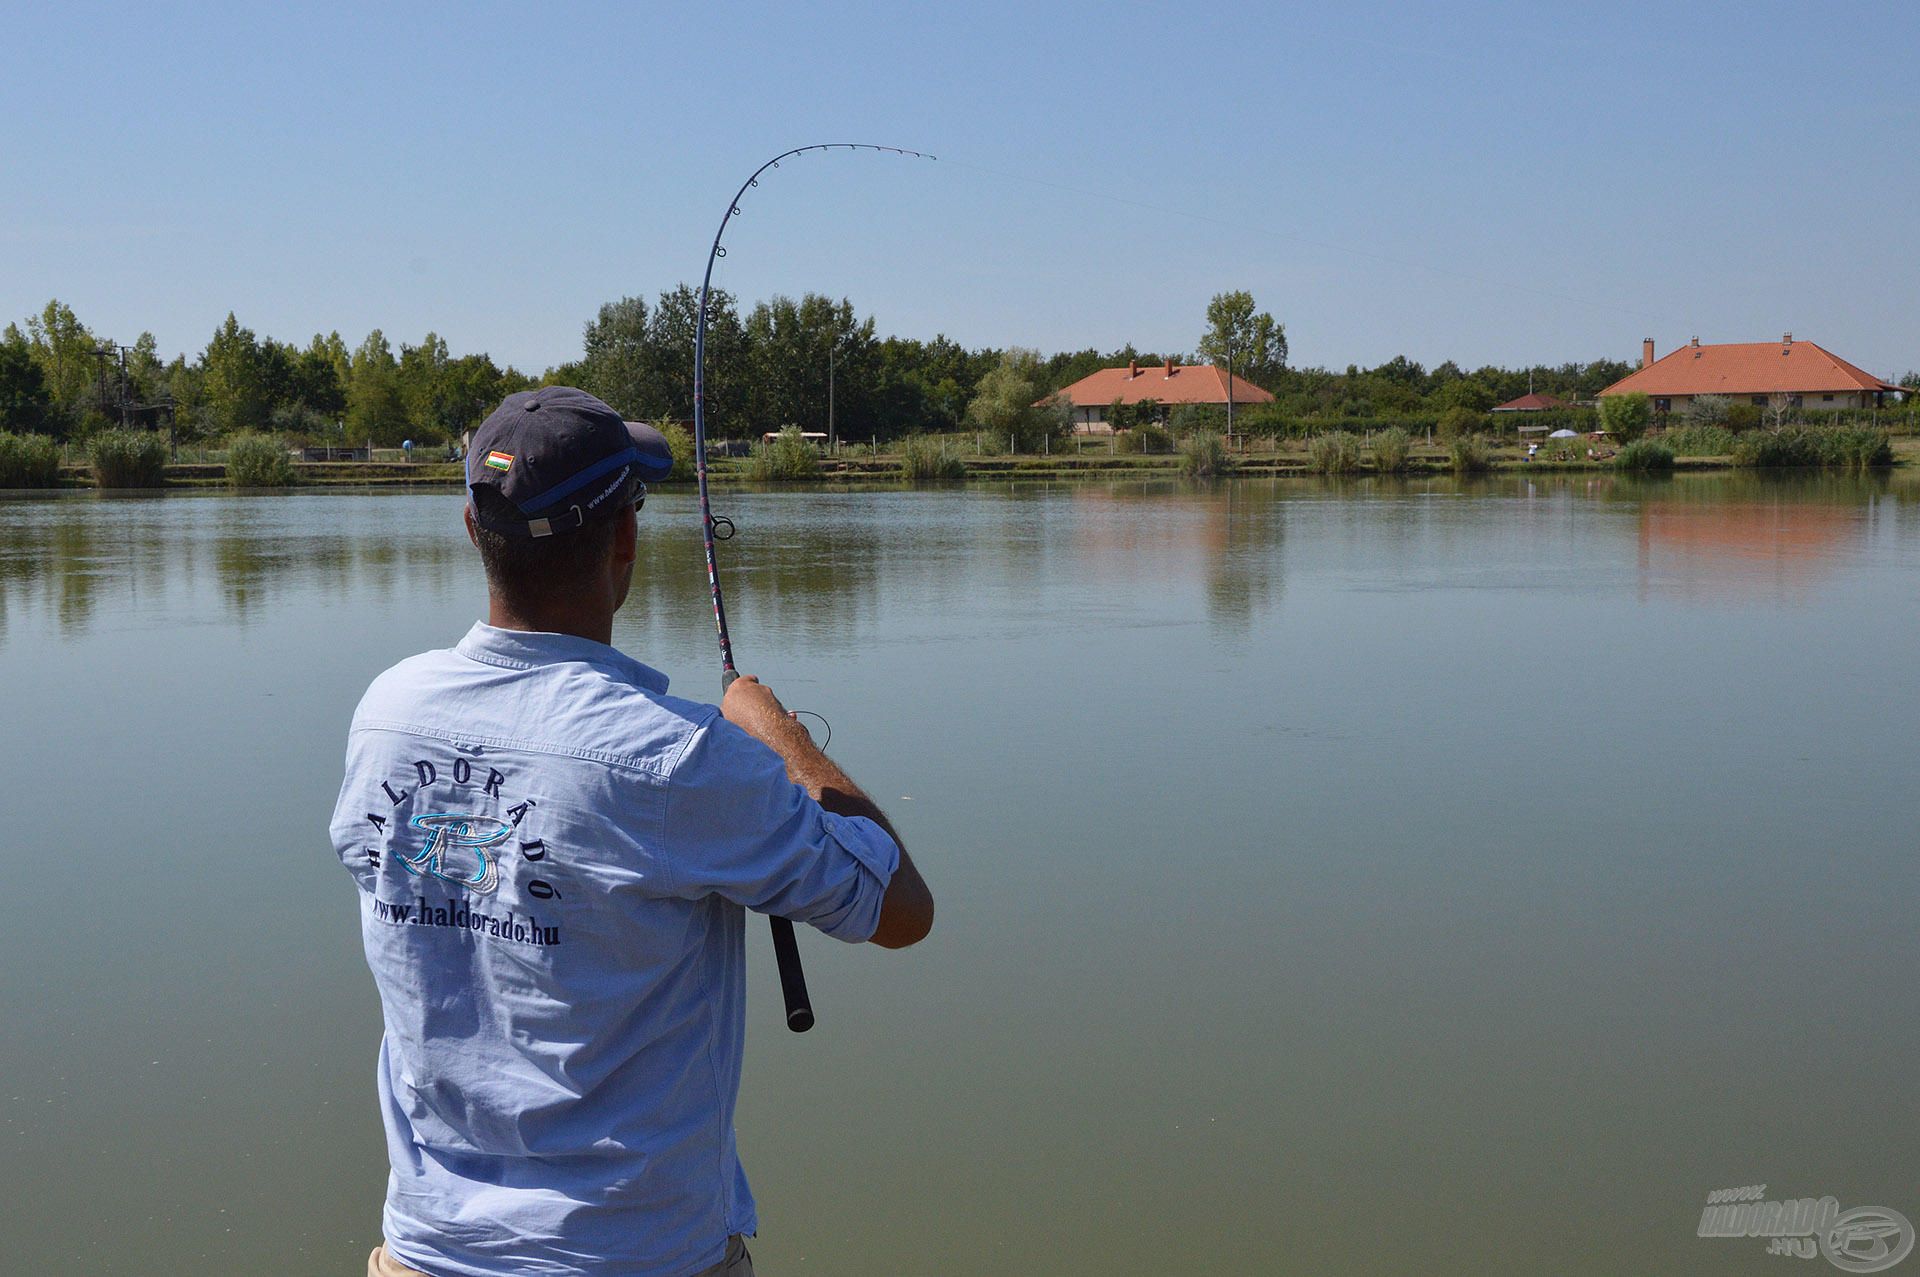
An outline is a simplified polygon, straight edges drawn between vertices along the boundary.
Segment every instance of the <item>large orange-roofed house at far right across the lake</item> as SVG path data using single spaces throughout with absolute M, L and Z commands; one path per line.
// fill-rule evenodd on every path
M 1644 394 L 1655 413 L 1674 413 L 1697 396 L 1724 396 L 1734 403 L 1770 409 L 1839 411 L 1882 407 L 1901 394 L 1893 382 L 1864 373 L 1814 342 L 1732 342 L 1701 346 L 1699 338 L 1653 357 L 1653 338 L 1640 344 L 1640 371 L 1628 373 L 1599 396 Z

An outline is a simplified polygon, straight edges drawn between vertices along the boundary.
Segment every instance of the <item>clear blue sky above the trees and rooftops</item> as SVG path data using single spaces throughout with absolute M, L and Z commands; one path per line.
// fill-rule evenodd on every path
M 927 6 L 931 10 L 931 6 Z M 1793 330 L 1920 367 L 1920 6 L 12 6 L 0 319 L 198 351 L 438 330 L 540 371 L 601 301 L 822 290 L 879 330 L 1294 363 Z

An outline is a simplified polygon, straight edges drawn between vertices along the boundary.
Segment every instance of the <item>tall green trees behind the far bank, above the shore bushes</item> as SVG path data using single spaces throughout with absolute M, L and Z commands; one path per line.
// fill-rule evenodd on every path
M 434 332 L 419 344 L 401 342 L 397 351 L 378 328 L 355 346 L 340 332 L 300 346 L 259 336 L 230 313 L 204 349 L 163 359 L 152 332 L 119 346 L 54 300 L 0 332 L 0 430 L 86 438 L 123 419 L 157 424 L 171 417 L 182 440 L 271 430 L 305 442 L 396 446 L 411 438 L 432 446 L 476 424 L 503 396 L 536 384 L 580 386 L 630 419 L 689 421 L 697 301 L 687 284 L 651 301 L 609 301 L 584 325 L 580 357 L 536 376 L 488 353 L 453 355 Z M 1242 407 L 1236 428 L 1288 434 L 1331 422 L 1432 421 L 1450 409 L 1478 415 L 1528 388 L 1592 399 L 1632 371 L 1619 359 L 1471 371 L 1448 361 L 1427 369 L 1405 355 L 1371 369 L 1296 369 L 1284 325 L 1258 311 L 1248 292 L 1215 296 L 1196 326 L 1194 353 L 1129 344 L 1043 355 L 968 348 L 945 334 L 881 338 L 874 317 L 845 298 L 780 296 L 741 313 L 732 294 L 716 290 L 707 328 L 707 419 L 718 438 L 785 424 L 828 430 L 831 422 L 847 440 L 1000 430 L 1025 447 L 1064 421 L 1029 405 L 1098 369 L 1231 359 L 1238 376 L 1275 396 L 1271 405 Z

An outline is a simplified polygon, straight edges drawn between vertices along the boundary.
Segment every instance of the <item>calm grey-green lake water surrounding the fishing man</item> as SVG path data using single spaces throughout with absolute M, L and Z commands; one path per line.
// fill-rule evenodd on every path
M 1916 497 L 722 494 L 741 668 L 939 899 L 803 935 L 804 1037 L 751 929 L 760 1271 L 1753 1273 L 1709 1191 L 1920 1219 Z M 641 520 L 616 643 L 712 695 L 691 497 Z M 445 492 L 0 501 L 8 1271 L 361 1271 L 326 820 L 369 678 L 480 609 Z

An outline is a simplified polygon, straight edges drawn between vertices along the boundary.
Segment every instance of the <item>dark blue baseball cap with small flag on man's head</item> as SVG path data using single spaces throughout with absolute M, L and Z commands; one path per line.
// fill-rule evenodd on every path
M 474 518 L 509 536 L 572 532 L 632 503 L 647 480 L 674 469 L 666 438 L 649 424 L 622 421 L 586 390 L 541 386 L 507 396 L 474 430 L 467 486 L 492 488 L 520 513 Z

